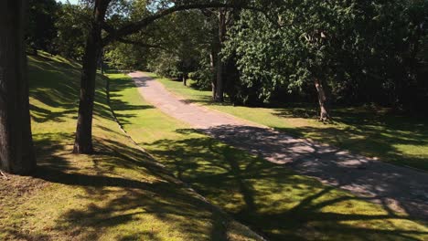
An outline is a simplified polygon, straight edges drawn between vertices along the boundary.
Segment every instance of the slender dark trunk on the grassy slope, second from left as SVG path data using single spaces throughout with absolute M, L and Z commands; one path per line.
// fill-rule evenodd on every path
M 91 32 L 86 40 L 80 78 L 79 116 L 74 141 L 74 153 L 91 154 L 92 146 L 92 112 L 95 97 L 95 78 L 97 60 L 102 50 L 102 22 L 109 5 L 109 0 L 95 1 Z

